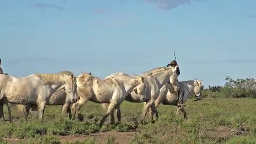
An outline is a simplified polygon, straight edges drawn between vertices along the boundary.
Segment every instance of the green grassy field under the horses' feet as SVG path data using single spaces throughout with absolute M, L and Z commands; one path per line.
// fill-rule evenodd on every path
M 83 121 L 61 117 L 61 106 L 47 106 L 43 123 L 30 114 L 29 121 L 12 107 L 13 123 L 1 121 L 0 143 L 47 144 L 256 144 L 256 99 L 188 100 L 188 119 L 175 117 L 176 107 L 160 105 L 159 120 L 137 123 L 143 104 L 123 102 L 122 123 L 101 129 L 105 110 L 100 104 L 86 103 Z M 5 108 L 5 107 L 4 107 Z M 5 108 L 5 117 L 8 114 Z

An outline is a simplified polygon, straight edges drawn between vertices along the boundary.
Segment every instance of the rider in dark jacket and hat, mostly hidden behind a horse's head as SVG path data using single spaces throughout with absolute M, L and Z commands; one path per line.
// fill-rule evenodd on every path
M 180 75 L 179 65 L 177 64 L 177 61 L 175 61 L 175 60 L 171 61 L 171 63 L 168 64 L 167 67 L 169 67 L 169 66 L 171 66 L 171 67 L 178 66 L 176 72 L 177 72 L 177 75 L 178 75 L 178 76 Z M 183 104 L 184 93 L 185 93 L 184 88 L 182 87 L 182 85 L 179 85 L 179 89 L 178 89 L 178 96 L 179 96 L 179 97 L 178 97 L 178 102 L 177 102 L 177 106 L 178 106 L 178 107 L 184 105 L 184 104 Z

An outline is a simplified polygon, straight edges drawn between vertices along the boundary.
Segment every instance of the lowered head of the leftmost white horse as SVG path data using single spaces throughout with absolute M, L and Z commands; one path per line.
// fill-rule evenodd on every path
M 67 93 L 67 99 L 72 100 L 74 103 L 77 101 L 77 84 L 76 77 L 72 72 L 61 72 L 65 83 L 65 92 Z

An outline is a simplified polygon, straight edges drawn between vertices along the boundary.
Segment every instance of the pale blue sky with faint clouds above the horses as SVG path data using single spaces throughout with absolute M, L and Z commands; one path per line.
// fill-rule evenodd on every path
M 179 80 L 256 75 L 255 0 L 0 0 L 0 58 L 15 76 L 141 74 L 174 59 Z

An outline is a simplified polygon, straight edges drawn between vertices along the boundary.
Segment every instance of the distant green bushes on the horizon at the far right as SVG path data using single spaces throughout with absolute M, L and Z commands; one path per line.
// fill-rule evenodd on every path
M 256 98 L 256 81 L 253 78 L 233 80 L 227 76 L 225 80 L 227 82 L 224 87 L 218 85 L 203 89 L 203 97 Z

